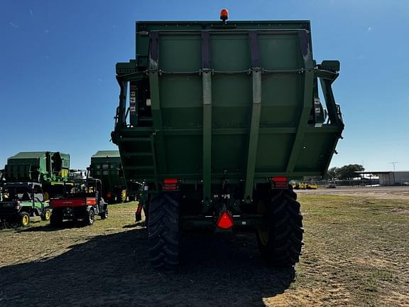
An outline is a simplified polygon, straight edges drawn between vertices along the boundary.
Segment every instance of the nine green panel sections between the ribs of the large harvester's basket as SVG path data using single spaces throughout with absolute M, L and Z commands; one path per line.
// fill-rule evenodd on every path
M 266 36 L 266 37 L 264 37 Z M 303 68 L 298 33 L 259 35 L 261 64 L 266 70 Z M 248 129 L 251 120 L 252 81 L 248 33 L 210 33 L 212 76 L 212 129 L 244 129 L 241 134 L 212 136 L 212 173 L 227 171 L 243 178 L 246 171 Z M 273 43 L 271 43 L 273 42 Z M 287 52 L 285 52 L 287 50 Z M 178 53 L 178 51 L 180 51 Z M 200 69 L 200 34 L 159 36 L 159 68 L 163 72 L 194 72 Z M 163 60 L 164 59 L 164 60 Z M 261 126 L 297 126 L 303 91 L 301 74 L 263 75 Z M 200 76 L 172 74 L 159 78 L 160 109 L 164 128 L 202 126 Z M 312 97 L 311 97 L 312 99 Z M 260 138 L 257 171 L 283 172 L 293 146 L 293 135 Z M 202 172 L 202 135 L 164 137 L 168 174 Z M 280 150 L 277 150 L 280 149 Z M 156 148 L 157 151 L 160 149 Z M 165 171 L 158 170 L 165 175 Z M 262 175 L 264 176 L 264 175 Z

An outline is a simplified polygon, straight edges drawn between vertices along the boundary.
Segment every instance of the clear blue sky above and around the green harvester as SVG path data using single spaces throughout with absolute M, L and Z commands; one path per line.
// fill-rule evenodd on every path
M 109 142 L 115 63 L 134 58 L 138 20 L 310 19 L 317 62 L 346 129 L 332 166 L 409 170 L 409 1 L 1 1 L 0 166 L 18 151 L 62 151 L 84 168 Z M 0 167 L 1 168 L 1 167 Z

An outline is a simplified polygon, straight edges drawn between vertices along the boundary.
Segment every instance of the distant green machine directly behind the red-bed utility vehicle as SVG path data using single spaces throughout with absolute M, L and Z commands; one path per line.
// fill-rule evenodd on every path
M 89 176 L 102 181 L 102 197 L 108 203 L 124 203 L 126 182 L 119 151 L 97 151 L 91 157 Z

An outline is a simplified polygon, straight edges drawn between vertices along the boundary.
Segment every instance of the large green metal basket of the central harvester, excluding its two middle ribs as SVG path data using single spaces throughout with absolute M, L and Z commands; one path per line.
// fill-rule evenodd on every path
M 241 21 L 228 25 L 223 28 L 221 23 L 212 22 L 137 23 L 136 63 L 119 63 L 117 72 L 120 84 L 149 78 L 153 126 L 116 124 L 113 140 L 119 144 L 129 178 L 202 179 L 207 151 L 203 130 L 207 124 L 211 137 L 205 146 L 211 146 L 213 179 L 227 171 L 230 178 L 243 180 L 249 166 L 254 167 L 256 180 L 325 172 L 343 124 L 307 124 L 317 92 L 312 90 L 316 68 L 310 23 Z M 207 91 L 211 117 L 204 117 L 203 107 L 204 31 L 209 33 L 211 77 Z M 256 33 L 257 50 L 249 39 L 251 31 Z M 257 63 L 254 54 L 258 56 L 258 68 L 253 67 Z M 254 126 L 253 74 L 257 69 L 261 71 L 261 112 L 256 123 L 256 161 L 249 163 L 250 126 Z M 144 75 L 121 79 L 121 74 L 138 70 Z M 336 72 L 330 72 L 331 82 L 337 77 Z M 335 110 L 334 101 L 330 103 Z M 121 112 L 119 118 L 124 118 Z M 204 122 L 204 118 L 210 122 Z

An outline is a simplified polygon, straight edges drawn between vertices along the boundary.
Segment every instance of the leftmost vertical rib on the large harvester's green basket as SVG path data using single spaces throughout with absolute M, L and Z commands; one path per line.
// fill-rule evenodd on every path
M 158 149 L 156 151 L 157 166 L 160 172 L 166 173 L 165 142 L 163 140 L 163 122 L 159 95 L 159 33 L 151 32 L 151 43 L 149 48 L 149 87 L 151 91 L 153 133 L 156 134 L 155 139 L 153 139 L 155 141 L 153 146 L 156 145 L 156 148 Z

